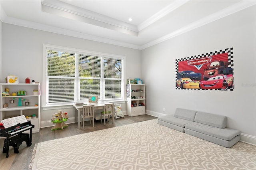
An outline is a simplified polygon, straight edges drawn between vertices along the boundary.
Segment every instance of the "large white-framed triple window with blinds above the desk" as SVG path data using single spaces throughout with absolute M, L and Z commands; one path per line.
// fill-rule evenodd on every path
M 44 45 L 44 106 L 124 100 L 124 56 Z

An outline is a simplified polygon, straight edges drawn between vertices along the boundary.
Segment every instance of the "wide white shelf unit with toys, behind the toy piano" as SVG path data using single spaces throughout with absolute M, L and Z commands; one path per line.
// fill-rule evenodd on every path
M 30 83 L 18 83 L 18 84 L 8 84 L 0 83 L 1 93 L 9 89 L 10 96 L 1 95 L 0 99 L 0 119 L 7 119 L 16 116 L 31 116 L 36 115 L 36 117 L 31 117 L 31 124 L 35 127 L 32 132 L 39 132 L 40 129 L 40 84 L 30 84 Z M 18 91 L 25 91 L 25 95 L 12 95 Z M 10 102 L 14 100 L 13 103 Z M 21 103 L 20 103 L 21 102 Z M 25 102 L 29 102 L 28 105 Z M 8 104 L 8 107 L 4 107 L 4 104 Z M 18 106 L 20 105 L 21 106 Z

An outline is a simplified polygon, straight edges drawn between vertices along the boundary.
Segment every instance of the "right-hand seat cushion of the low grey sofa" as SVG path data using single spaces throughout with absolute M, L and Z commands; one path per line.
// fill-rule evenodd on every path
M 214 136 L 223 140 L 232 140 L 232 138 L 240 135 L 239 130 L 234 130 L 231 128 L 217 128 L 209 125 L 204 125 L 202 123 L 190 122 L 185 125 L 185 129 L 194 130 L 209 136 Z

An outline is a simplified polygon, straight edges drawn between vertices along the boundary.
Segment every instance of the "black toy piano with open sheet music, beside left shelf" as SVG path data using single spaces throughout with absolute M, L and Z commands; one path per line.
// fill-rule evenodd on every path
M 3 153 L 6 153 L 6 158 L 9 157 L 9 146 L 13 146 L 14 153 L 19 153 L 19 147 L 22 142 L 26 142 L 27 146 L 32 144 L 32 128 L 35 126 L 31 124 L 31 121 L 25 123 L 19 123 L 15 126 L 8 128 L 0 128 L 0 136 L 6 137 L 4 140 Z M 30 130 L 30 133 L 22 133 Z

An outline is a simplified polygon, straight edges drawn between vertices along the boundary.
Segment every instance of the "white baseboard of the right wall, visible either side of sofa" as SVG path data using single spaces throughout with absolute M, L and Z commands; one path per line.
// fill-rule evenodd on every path
M 146 110 L 146 114 L 154 117 L 165 116 L 166 114 Z M 256 146 L 256 136 L 240 133 L 240 141 Z

